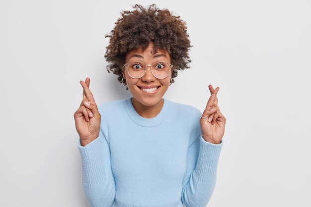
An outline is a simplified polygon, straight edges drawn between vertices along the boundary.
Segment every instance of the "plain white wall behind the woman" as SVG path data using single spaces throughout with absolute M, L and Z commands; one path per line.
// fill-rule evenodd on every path
M 103 57 L 122 10 L 150 0 L 0 1 L 0 206 L 87 207 L 74 112 L 131 96 Z M 227 118 L 209 207 L 310 207 L 310 0 L 157 0 L 187 22 L 191 68 L 164 98 Z

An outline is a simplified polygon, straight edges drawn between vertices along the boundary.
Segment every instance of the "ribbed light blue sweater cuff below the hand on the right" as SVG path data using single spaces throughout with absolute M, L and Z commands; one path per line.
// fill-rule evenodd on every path
M 223 140 L 220 144 L 206 142 L 200 136 L 200 152 L 198 156 L 195 176 L 198 181 L 210 183 L 216 180 L 218 160 L 223 147 Z

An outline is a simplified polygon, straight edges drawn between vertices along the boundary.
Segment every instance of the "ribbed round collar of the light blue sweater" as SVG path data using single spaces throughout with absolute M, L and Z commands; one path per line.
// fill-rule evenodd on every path
M 145 127 L 155 127 L 161 124 L 165 120 L 168 114 L 170 105 L 171 105 L 171 102 L 169 100 L 165 98 L 162 98 L 162 99 L 164 100 L 162 108 L 160 112 L 153 118 L 145 118 L 139 115 L 132 104 L 132 97 L 128 99 L 124 99 L 124 107 L 129 117 L 136 124 L 140 126 L 145 126 Z

